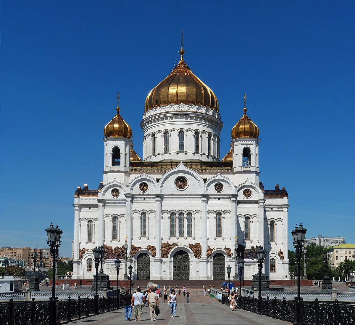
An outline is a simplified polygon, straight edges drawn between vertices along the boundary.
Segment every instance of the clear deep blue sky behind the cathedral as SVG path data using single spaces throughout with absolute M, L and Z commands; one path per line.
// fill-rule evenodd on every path
M 74 192 L 103 179 L 116 93 L 142 156 L 144 100 L 173 68 L 181 29 L 186 62 L 219 100 L 221 155 L 246 92 L 261 181 L 286 187 L 289 232 L 301 221 L 307 237 L 355 243 L 354 1 L 2 0 L 0 9 L 0 247 L 48 247 L 53 221 L 71 255 Z

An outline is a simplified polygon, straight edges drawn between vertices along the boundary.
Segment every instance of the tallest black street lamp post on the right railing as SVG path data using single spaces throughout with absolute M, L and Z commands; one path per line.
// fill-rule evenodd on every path
M 305 245 L 305 237 L 306 237 L 306 228 L 302 227 L 302 223 L 300 223 L 300 227 L 297 227 L 291 231 L 293 236 L 293 246 L 296 249 L 296 256 L 297 256 L 297 298 L 296 300 L 296 317 L 294 325 L 301 325 L 302 324 L 302 315 L 301 315 L 301 277 L 300 277 L 300 264 L 301 264 L 301 254 L 302 254 L 302 247 Z

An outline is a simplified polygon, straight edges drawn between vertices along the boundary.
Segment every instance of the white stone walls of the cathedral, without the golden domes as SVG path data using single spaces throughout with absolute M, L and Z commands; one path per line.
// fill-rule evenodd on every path
M 233 163 L 230 161 L 229 165 L 197 166 L 201 161 L 220 162 L 220 153 L 224 155 L 228 151 L 229 143 L 220 148 L 222 126 L 219 112 L 201 105 L 162 105 L 144 112 L 143 165 L 139 166 L 130 162 L 131 138 L 104 139 L 103 182 L 98 190 L 84 185 L 75 192 L 73 279 L 92 279 L 95 269 L 91 249 L 96 245 L 115 249 L 122 247 L 125 239 L 129 250 L 132 245 L 140 247 L 129 259 L 133 278 L 137 278 L 137 259 L 144 253 L 149 257 L 150 279 L 174 279 L 173 257 L 178 251 L 189 256 L 190 279 L 213 279 L 216 254 L 223 255 L 225 266 L 232 266 L 233 278 L 236 236 L 237 243 L 246 249 L 264 246 L 268 254 L 263 272 L 270 279 L 290 278 L 288 195 L 278 186 L 265 191 L 260 183 L 259 139 L 233 139 Z M 179 148 L 179 132 L 184 135 L 180 143 L 183 148 Z M 113 163 L 115 148 L 121 153 L 119 164 Z M 250 150 L 249 164 L 243 164 L 245 148 Z M 149 165 L 159 161 L 166 165 Z M 197 165 L 191 167 L 194 162 Z M 181 178 L 185 179 L 182 186 Z M 143 187 L 142 183 L 145 183 Z M 172 222 L 175 222 L 175 234 Z M 167 242 L 175 244 L 168 254 L 161 251 L 162 243 Z M 200 244 L 200 255 L 195 257 L 189 244 Z M 152 246 L 155 246 L 155 256 L 147 249 Z M 207 254 L 208 247 L 213 249 L 211 255 Z M 233 252 L 233 257 L 228 257 L 225 248 Z M 125 273 L 123 265 L 124 261 L 120 279 Z M 104 272 L 116 277 L 113 256 L 104 260 Z M 257 272 L 256 260 L 246 259 L 244 279 L 251 279 Z M 226 271 L 225 279 L 228 279 Z

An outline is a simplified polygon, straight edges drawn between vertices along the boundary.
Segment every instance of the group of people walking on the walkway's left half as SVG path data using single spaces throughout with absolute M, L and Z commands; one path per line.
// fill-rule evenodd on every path
M 159 289 L 158 289 L 159 290 Z M 125 308 L 125 319 L 130 321 L 132 316 L 132 309 L 134 309 L 134 315 L 136 321 L 141 321 L 142 309 L 144 306 L 149 307 L 151 321 L 157 320 L 157 315 L 159 314 L 159 294 L 158 290 L 151 287 L 148 288 L 147 293 L 144 295 L 141 292 L 141 288 L 138 287 L 137 291 L 133 292 L 133 295 L 130 294 L 129 289 L 126 290 L 126 293 L 122 296 L 122 302 Z M 176 305 L 178 304 L 177 298 L 178 294 L 180 297 L 181 290 L 170 288 L 170 294 L 167 292 L 168 288 L 164 286 L 164 304 L 170 305 L 171 317 L 176 317 Z M 189 303 L 190 292 L 186 289 L 185 286 L 182 287 L 182 294 L 186 297 L 186 303 Z

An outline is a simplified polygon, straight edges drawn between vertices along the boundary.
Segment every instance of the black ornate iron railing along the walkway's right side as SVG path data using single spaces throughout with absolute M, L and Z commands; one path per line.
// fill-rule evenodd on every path
M 241 308 L 253 313 L 258 312 L 258 298 L 237 296 L 236 308 Z M 222 304 L 229 304 L 228 294 L 222 294 Z M 261 313 L 263 315 L 289 322 L 294 322 L 296 312 L 296 300 L 283 300 L 274 298 L 262 298 Z M 355 324 L 355 304 L 315 301 L 300 302 L 303 325 L 353 325 Z

